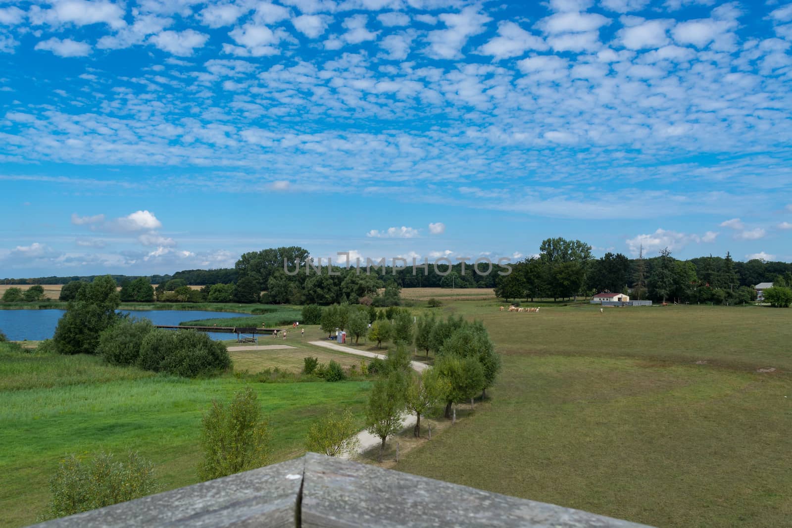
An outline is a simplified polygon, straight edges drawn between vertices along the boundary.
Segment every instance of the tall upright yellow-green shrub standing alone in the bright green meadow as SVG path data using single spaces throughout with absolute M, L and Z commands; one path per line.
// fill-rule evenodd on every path
M 257 395 L 249 387 L 234 393 L 230 405 L 212 401 L 204 414 L 201 447 L 204 460 L 198 477 L 208 481 L 266 465 L 269 428 L 261 416 Z

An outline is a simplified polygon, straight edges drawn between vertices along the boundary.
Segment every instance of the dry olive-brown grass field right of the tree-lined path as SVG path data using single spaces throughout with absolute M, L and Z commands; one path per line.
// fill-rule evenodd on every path
M 497 306 L 444 307 L 503 355 L 492 399 L 396 469 L 654 526 L 790 526 L 792 310 Z

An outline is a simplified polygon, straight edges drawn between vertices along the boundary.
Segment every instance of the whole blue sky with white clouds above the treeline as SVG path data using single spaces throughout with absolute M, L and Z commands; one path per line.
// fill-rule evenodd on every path
M 0 0 L 0 276 L 792 260 L 792 4 Z

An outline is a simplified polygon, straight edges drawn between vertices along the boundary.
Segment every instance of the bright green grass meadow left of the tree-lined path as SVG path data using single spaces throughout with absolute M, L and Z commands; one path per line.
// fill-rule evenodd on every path
M 257 364 L 266 363 L 264 352 Z M 254 359 L 252 351 L 243 354 Z M 302 362 L 308 353 L 300 354 Z M 201 413 L 212 399 L 227 400 L 244 386 L 257 391 L 272 426 L 273 462 L 302 454 L 308 426 L 329 409 L 350 405 L 363 426 L 368 382 L 168 378 L 108 367 L 92 356 L 36 355 L 0 343 L 0 526 L 36 520 L 49 500 L 48 475 L 66 454 L 139 450 L 166 488 L 197 482 Z

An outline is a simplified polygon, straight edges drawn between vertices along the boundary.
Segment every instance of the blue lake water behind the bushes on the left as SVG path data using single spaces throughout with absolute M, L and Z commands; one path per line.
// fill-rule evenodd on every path
M 11 341 L 40 341 L 55 334 L 55 326 L 66 310 L 0 310 L 0 330 Z M 196 319 L 245 317 L 245 313 L 206 312 L 204 310 L 119 310 L 131 317 L 146 317 L 154 325 L 178 325 Z M 236 339 L 236 334 L 209 332 L 215 340 Z

